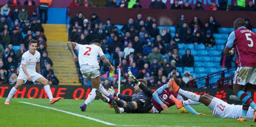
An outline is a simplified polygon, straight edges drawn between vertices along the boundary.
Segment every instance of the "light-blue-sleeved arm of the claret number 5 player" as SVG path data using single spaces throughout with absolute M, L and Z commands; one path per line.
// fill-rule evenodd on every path
M 233 55 L 235 54 L 235 51 L 234 51 L 234 48 L 233 48 L 233 45 L 234 45 L 234 42 L 235 42 L 235 33 L 232 32 L 228 39 L 227 39 L 227 44 L 224 48 L 224 51 L 223 51 L 223 54 L 226 55 L 226 56 L 230 56 L 230 55 Z

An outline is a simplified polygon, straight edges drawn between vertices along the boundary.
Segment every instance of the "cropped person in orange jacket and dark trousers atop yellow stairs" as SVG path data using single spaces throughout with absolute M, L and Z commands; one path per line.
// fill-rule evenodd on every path
M 47 19 L 48 19 L 48 8 L 49 6 L 51 6 L 52 4 L 52 0 L 39 0 L 39 14 L 40 14 L 40 17 L 41 19 L 43 20 L 43 13 L 44 13 L 44 22 L 43 23 L 46 23 L 47 22 Z

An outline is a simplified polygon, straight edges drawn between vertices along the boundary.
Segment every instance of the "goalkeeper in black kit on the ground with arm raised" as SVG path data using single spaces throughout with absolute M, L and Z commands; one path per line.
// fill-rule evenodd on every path
M 136 83 L 134 86 L 134 94 L 132 96 L 123 95 L 111 91 L 114 96 L 117 96 L 120 100 L 110 100 L 111 104 L 116 113 L 148 113 L 153 112 L 153 105 L 151 102 L 152 92 L 147 88 L 147 82 L 143 79 L 136 79 L 131 71 L 128 72 L 128 76 Z M 102 94 L 97 94 L 97 96 L 102 99 L 104 102 L 108 100 L 102 96 Z

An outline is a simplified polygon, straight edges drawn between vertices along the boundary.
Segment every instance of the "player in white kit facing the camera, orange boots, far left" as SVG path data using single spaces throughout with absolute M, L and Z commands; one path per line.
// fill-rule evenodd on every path
M 49 82 L 44 76 L 41 75 L 40 71 L 40 53 L 36 51 L 37 49 L 37 41 L 31 40 L 29 41 L 29 51 L 26 51 L 22 55 L 21 64 L 20 64 L 20 73 L 17 78 L 17 83 L 14 87 L 12 87 L 6 101 L 4 104 L 10 104 L 10 99 L 16 93 L 17 89 L 23 83 L 26 83 L 27 80 L 30 82 L 39 82 L 44 85 L 44 90 L 49 97 L 50 104 L 54 104 L 58 102 L 61 98 L 53 98 L 52 97 L 52 90 L 50 88 Z M 38 71 L 38 73 L 36 72 Z

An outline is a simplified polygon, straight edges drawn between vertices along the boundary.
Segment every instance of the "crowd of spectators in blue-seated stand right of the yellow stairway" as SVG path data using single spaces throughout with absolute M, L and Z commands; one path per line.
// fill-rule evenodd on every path
M 143 20 L 142 14 L 138 14 L 136 19 L 130 18 L 128 23 L 118 28 L 109 18 L 103 24 L 97 14 L 85 18 L 83 13 L 79 13 L 70 20 L 69 40 L 79 44 L 89 44 L 93 39 L 102 40 L 101 48 L 107 58 L 115 68 L 122 68 L 122 85 L 134 86 L 128 79 L 127 72 L 131 71 L 137 78 L 146 79 L 148 86 L 162 86 L 170 77 L 178 77 L 182 87 L 197 87 L 189 71 L 177 71 L 176 67 L 193 67 L 195 62 L 190 49 L 185 49 L 186 53 L 179 56 L 178 44 L 212 47 L 215 45 L 212 35 L 218 33 L 221 24 L 212 16 L 205 23 L 198 17 L 194 17 L 191 23 L 188 20 L 184 15 L 180 16 L 172 37 L 169 28 L 159 30 L 152 17 Z M 249 20 L 247 25 L 251 26 Z M 222 54 L 219 66 L 231 68 L 232 61 L 233 56 Z M 102 84 L 117 85 L 118 71 L 110 73 L 100 60 L 99 64 Z M 82 84 L 90 85 L 79 73 Z

